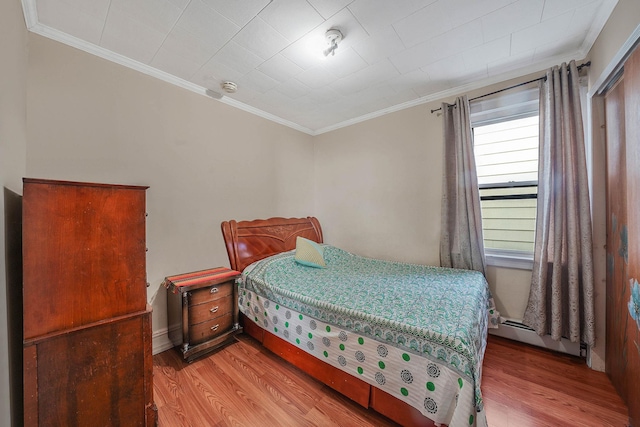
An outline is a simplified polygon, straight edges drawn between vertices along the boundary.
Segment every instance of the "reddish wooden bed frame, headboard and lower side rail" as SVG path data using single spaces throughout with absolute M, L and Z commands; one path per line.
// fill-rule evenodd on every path
M 224 221 L 221 227 L 231 268 L 237 271 L 268 256 L 295 249 L 297 236 L 323 242 L 322 229 L 315 217 L 231 220 Z M 264 347 L 365 408 L 404 426 L 435 427 L 433 421 L 412 406 L 265 331 L 242 313 L 241 321 L 244 332 Z

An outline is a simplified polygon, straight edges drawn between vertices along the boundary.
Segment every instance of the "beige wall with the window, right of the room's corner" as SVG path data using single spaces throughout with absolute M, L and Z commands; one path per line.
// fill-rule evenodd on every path
M 468 96 L 540 75 L 471 91 Z M 440 265 L 442 117 L 431 109 L 441 102 L 315 138 L 316 212 L 328 243 L 370 257 Z M 489 267 L 487 279 L 500 313 L 521 320 L 531 272 Z

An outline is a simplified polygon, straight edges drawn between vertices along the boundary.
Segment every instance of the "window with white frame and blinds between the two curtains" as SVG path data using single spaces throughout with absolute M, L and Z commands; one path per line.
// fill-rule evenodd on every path
M 531 268 L 535 243 L 538 99 L 523 92 L 471 107 L 487 264 L 512 268 Z

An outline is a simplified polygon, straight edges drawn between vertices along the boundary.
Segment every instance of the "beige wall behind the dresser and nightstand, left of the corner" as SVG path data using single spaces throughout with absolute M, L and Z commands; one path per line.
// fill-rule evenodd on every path
M 154 333 L 164 277 L 229 265 L 220 223 L 313 214 L 312 137 L 29 36 L 27 175 L 147 191 Z

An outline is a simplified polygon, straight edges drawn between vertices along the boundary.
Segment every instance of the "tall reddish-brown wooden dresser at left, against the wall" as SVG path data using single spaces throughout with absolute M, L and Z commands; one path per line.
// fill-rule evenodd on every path
M 25 425 L 155 425 L 147 187 L 23 181 Z

